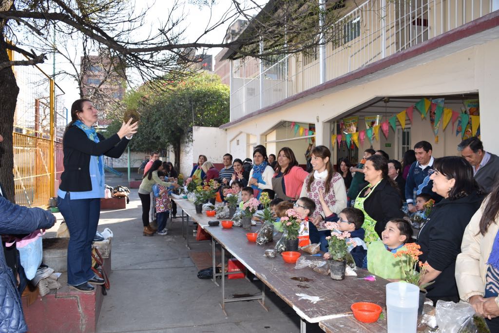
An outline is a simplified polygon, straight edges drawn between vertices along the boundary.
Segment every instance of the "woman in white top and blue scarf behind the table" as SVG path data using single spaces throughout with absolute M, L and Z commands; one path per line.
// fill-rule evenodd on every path
M 260 197 L 261 190 L 272 189 L 272 177 L 274 170 L 267 163 L 267 152 L 263 146 L 253 151 L 253 168 L 250 171 L 248 186 L 253 188 L 256 199 Z

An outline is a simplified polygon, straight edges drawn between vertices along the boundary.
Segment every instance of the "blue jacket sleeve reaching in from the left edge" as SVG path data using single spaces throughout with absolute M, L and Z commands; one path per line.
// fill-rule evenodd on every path
M 0 234 L 29 234 L 37 229 L 49 229 L 55 216 L 41 208 L 27 208 L 0 197 Z

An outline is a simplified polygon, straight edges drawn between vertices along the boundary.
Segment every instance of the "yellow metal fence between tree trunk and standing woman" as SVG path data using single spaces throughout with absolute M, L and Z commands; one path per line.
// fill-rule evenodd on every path
M 9 56 L 23 59 L 16 52 Z M 15 202 L 44 207 L 55 195 L 63 170 L 64 91 L 37 66 L 12 69 L 19 87 L 12 133 Z

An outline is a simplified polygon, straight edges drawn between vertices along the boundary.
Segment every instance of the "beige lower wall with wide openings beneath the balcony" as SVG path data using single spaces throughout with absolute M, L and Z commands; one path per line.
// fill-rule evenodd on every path
M 495 139 L 495 134 L 499 126 L 496 112 L 499 106 L 497 93 L 499 40 L 491 40 L 455 51 L 466 47 L 463 45 L 472 45 L 471 39 L 460 40 L 373 75 L 304 97 L 242 121 L 228 128 L 228 135 L 230 137 L 234 135 L 233 133 L 243 132 L 258 138 L 281 121 L 310 122 L 315 123 L 316 126 L 317 144 L 331 147 L 329 121 L 342 117 L 352 108 L 375 97 L 436 96 L 479 92 L 482 140 L 486 150 L 498 154 L 499 142 Z M 446 55 L 447 53 L 450 54 Z M 455 155 L 459 137 L 452 135 L 452 127 L 447 128 L 445 132 L 441 130 L 439 143 L 434 143 L 429 120 L 418 121 L 418 116 L 419 112 L 414 111 L 415 122 L 412 128 L 411 145 L 426 138 L 434 145 L 436 156 Z M 392 129 L 390 131 L 393 137 Z M 382 135 L 380 133 L 380 136 Z M 382 143 L 383 141 L 379 145 Z M 374 144 L 375 147 L 376 145 Z

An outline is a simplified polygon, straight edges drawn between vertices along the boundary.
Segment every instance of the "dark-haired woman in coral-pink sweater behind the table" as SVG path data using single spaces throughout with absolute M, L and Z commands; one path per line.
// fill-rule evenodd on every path
M 277 166 L 272 178 L 272 189 L 282 200 L 297 200 L 308 173 L 298 166 L 291 149 L 284 147 L 277 155 Z

